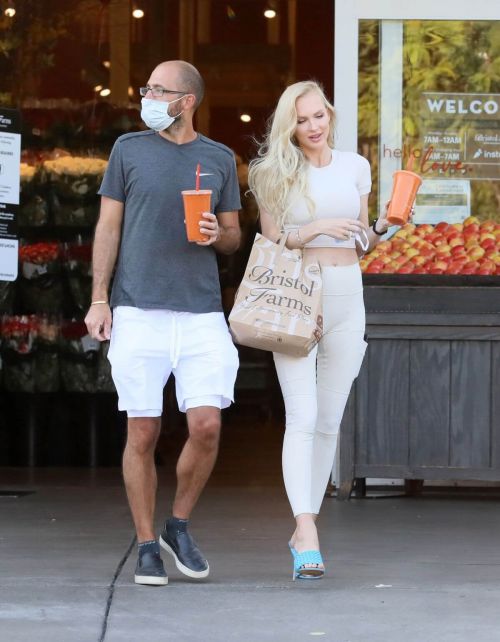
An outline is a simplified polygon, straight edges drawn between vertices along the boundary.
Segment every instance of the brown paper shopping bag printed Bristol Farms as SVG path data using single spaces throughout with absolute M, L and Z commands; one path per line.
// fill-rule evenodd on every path
M 303 357 L 318 341 L 321 270 L 285 242 L 256 234 L 229 326 L 236 343 Z

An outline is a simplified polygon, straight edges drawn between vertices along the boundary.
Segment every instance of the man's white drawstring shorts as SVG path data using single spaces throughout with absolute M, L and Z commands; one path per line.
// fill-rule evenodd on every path
M 222 312 L 192 314 L 119 306 L 108 353 L 118 408 L 129 417 L 159 417 L 173 373 L 179 410 L 233 401 L 238 351 Z

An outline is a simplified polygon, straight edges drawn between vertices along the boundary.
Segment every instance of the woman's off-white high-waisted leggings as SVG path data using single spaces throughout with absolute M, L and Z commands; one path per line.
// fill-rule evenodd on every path
M 318 514 L 340 422 L 366 350 L 359 264 L 322 268 L 323 336 L 307 357 L 274 353 L 285 402 L 283 477 L 293 514 Z

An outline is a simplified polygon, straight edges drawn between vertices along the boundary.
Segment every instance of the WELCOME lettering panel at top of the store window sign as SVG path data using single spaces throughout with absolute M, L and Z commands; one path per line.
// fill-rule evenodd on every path
M 424 92 L 421 115 L 426 118 L 453 117 L 497 119 L 500 114 L 500 94 L 464 94 Z

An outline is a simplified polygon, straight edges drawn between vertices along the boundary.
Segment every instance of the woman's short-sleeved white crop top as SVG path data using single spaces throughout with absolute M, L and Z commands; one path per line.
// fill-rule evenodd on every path
M 307 174 L 309 196 L 316 208 L 313 217 L 304 197 L 295 197 L 285 221 L 285 230 L 294 230 L 319 218 L 359 218 L 360 196 L 371 190 L 370 164 L 354 152 L 332 150 L 332 160 L 324 167 L 309 165 Z M 348 247 L 356 245 L 354 238 L 346 241 L 320 234 L 305 247 Z

